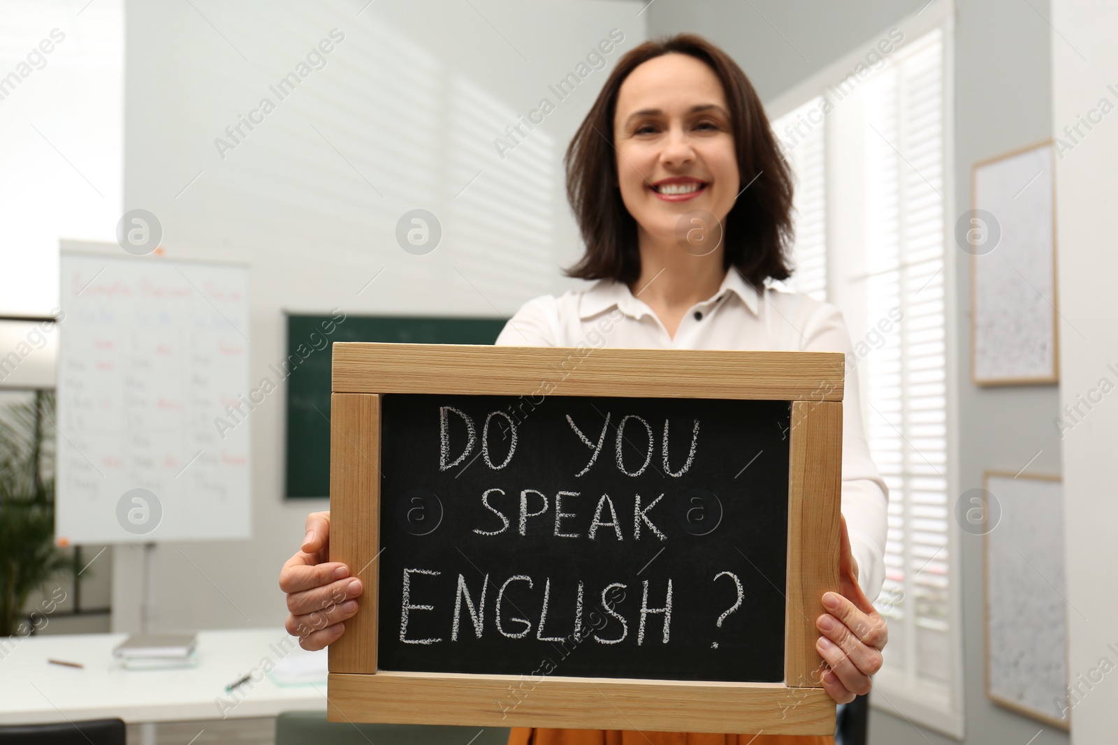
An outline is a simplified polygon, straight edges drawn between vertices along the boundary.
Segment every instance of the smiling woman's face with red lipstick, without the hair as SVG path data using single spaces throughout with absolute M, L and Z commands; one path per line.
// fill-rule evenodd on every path
M 684 213 L 722 221 L 733 207 L 740 176 L 730 113 L 705 63 L 667 54 L 637 66 L 617 94 L 614 142 L 622 201 L 638 230 L 675 237 Z

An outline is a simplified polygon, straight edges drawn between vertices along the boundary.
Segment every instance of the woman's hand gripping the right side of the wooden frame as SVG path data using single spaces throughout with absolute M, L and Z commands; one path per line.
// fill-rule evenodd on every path
M 881 650 L 889 640 L 889 628 L 858 584 L 858 562 L 850 551 L 846 518 L 840 517 L 839 586 L 842 594 L 823 594 L 823 605 L 830 612 L 815 619 L 816 628 L 823 633 L 815 649 L 827 665 L 822 677 L 824 690 L 840 704 L 849 704 L 855 695 L 870 693 L 873 685 L 870 676 L 881 669 Z

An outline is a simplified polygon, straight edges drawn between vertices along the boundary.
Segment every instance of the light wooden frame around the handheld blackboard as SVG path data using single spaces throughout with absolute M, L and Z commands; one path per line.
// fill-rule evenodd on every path
M 695 370 L 702 372 L 689 372 Z M 839 591 L 844 373 L 844 355 L 832 352 L 335 343 L 330 558 L 348 564 L 364 592 L 361 612 L 330 646 L 329 718 L 833 734 L 835 701 L 818 679 L 815 619 L 825 610 L 823 593 Z M 523 395 L 556 376 L 550 395 L 792 402 L 784 682 L 549 676 L 502 711 L 494 700 L 522 676 L 377 668 L 380 394 Z M 417 710 L 416 701 L 426 705 Z

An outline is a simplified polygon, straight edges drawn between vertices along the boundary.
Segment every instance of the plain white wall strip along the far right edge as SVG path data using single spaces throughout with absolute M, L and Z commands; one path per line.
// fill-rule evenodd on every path
M 1071 742 L 1093 745 L 1114 742 L 1118 728 L 1118 393 L 1100 389 L 1102 378 L 1118 384 L 1107 369 L 1118 363 L 1118 7 L 1052 0 L 1051 20 L 1053 133 L 1071 146 L 1057 161 L 1060 408 L 1080 405 L 1074 419 L 1064 416 L 1072 429 L 1062 442 Z M 1103 98 L 1110 113 L 1092 113 Z M 1096 124 L 1069 136 L 1064 127 L 1080 116 Z

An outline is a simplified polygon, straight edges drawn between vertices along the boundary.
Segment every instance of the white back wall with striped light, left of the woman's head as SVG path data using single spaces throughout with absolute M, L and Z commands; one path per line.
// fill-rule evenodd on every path
M 285 356 L 284 309 L 508 316 L 572 285 L 561 156 L 606 70 L 561 103 L 548 86 L 610 29 L 610 67 L 645 36 L 638 2 L 363 4 L 126 4 L 124 209 L 155 213 L 168 257 L 252 265 L 254 381 Z M 325 67 L 280 101 L 268 86 L 334 28 Z M 215 139 L 265 96 L 275 111 L 222 159 Z M 544 96 L 556 111 L 502 161 L 493 139 Z M 395 239 L 414 208 L 443 226 L 426 256 Z M 253 539 L 161 545 L 158 628 L 286 615 L 280 567 L 326 504 L 283 499 L 283 397 L 250 418 Z M 139 624 L 140 558 L 115 554 L 119 630 Z

